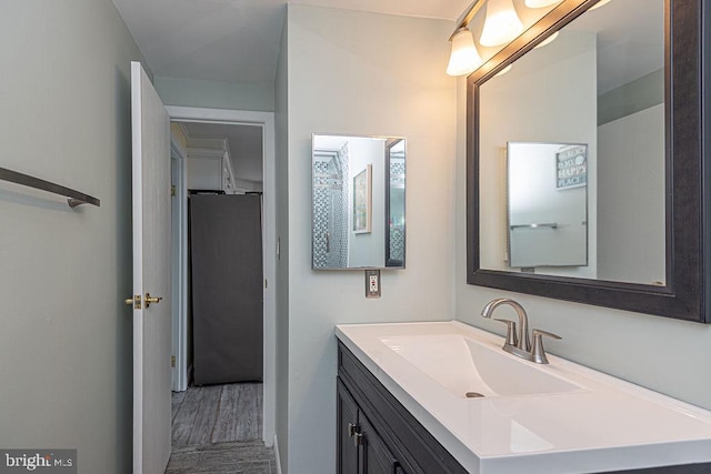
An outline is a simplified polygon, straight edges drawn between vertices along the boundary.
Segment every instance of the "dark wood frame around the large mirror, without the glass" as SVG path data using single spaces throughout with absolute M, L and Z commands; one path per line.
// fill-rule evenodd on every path
M 711 323 L 711 4 L 664 1 L 667 284 L 480 268 L 479 87 L 598 0 L 565 0 L 467 79 L 467 283 Z M 604 8 L 604 7 L 603 7 Z M 661 255 L 660 255 L 661 256 Z

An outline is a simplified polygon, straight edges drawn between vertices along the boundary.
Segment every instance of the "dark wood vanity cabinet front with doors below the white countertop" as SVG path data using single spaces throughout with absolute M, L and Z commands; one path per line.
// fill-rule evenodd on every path
M 339 474 L 464 474 L 452 455 L 339 342 Z

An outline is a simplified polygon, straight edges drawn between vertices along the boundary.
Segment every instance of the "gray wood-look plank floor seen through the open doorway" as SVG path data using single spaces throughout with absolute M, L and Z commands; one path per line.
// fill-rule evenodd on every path
M 262 436 L 262 384 L 191 386 L 172 395 L 172 454 L 166 474 L 276 474 Z

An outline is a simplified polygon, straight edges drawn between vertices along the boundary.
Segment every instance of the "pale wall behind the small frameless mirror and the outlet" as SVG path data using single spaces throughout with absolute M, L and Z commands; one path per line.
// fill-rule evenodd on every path
M 336 466 L 334 324 L 452 317 L 455 82 L 449 21 L 294 4 L 287 18 L 288 460 L 320 474 Z M 408 268 L 383 272 L 379 300 L 362 271 L 311 270 L 313 132 L 408 139 Z

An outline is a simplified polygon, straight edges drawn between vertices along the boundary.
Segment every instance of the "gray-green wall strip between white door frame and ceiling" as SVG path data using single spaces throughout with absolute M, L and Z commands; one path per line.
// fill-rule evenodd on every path
M 274 84 L 237 84 L 200 79 L 156 77 L 156 90 L 166 105 L 274 111 Z

